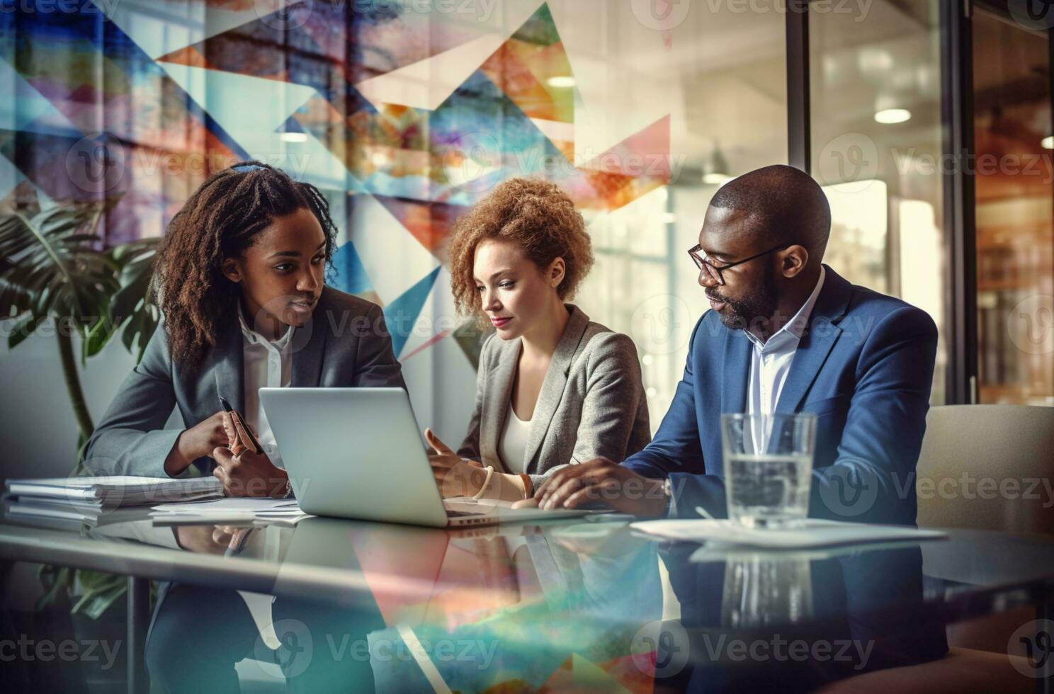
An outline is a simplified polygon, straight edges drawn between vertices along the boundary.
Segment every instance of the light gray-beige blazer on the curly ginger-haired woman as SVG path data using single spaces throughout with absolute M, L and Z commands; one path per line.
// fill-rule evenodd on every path
M 651 440 L 637 346 L 578 306 L 557 344 L 534 405 L 524 470 L 536 487 L 557 468 L 603 456 L 616 462 Z M 522 340 L 487 338 L 480 354 L 475 411 L 458 455 L 508 472 L 497 455 Z

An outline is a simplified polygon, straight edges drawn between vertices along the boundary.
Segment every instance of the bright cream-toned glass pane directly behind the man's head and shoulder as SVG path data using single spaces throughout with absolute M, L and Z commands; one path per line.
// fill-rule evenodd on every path
M 809 14 L 813 175 L 831 200 L 826 262 L 926 311 L 945 393 L 939 21 L 932 0 Z

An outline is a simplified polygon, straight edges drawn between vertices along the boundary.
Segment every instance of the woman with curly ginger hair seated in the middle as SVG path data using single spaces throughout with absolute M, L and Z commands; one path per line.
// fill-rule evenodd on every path
M 489 320 L 475 411 L 457 453 L 426 437 L 445 497 L 530 498 L 563 465 L 622 460 L 650 440 L 637 348 L 565 303 L 592 265 L 585 221 L 555 184 L 514 178 L 457 221 L 454 301 Z M 484 467 L 486 465 L 486 468 Z

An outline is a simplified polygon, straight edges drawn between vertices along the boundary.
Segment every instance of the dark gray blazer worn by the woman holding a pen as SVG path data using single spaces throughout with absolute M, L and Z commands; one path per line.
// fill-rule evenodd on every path
M 375 303 L 327 286 L 311 320 L 295 330 L 293 388 L 406 389 L 384 313 Z M 220 394 L 243 411 L 242 349 L 241 329 L 237 319 L 231 320 L 201 365 L 190 370 L 172 361 L 164 325 L 159 325 L 87 440 L 87 470 L 167 477 L 164 459 L 181 432 L 163 429 L 174 407 L 188 428 L 219 412 Z M 215 462 L 198 458 L 194 464 L 209 474 Z

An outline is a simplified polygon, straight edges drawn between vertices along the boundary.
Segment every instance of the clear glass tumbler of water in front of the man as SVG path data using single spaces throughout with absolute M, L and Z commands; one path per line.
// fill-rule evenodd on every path
M 808 515 L 816 415 L 721 415 L 728 518 L 747 528 Z

